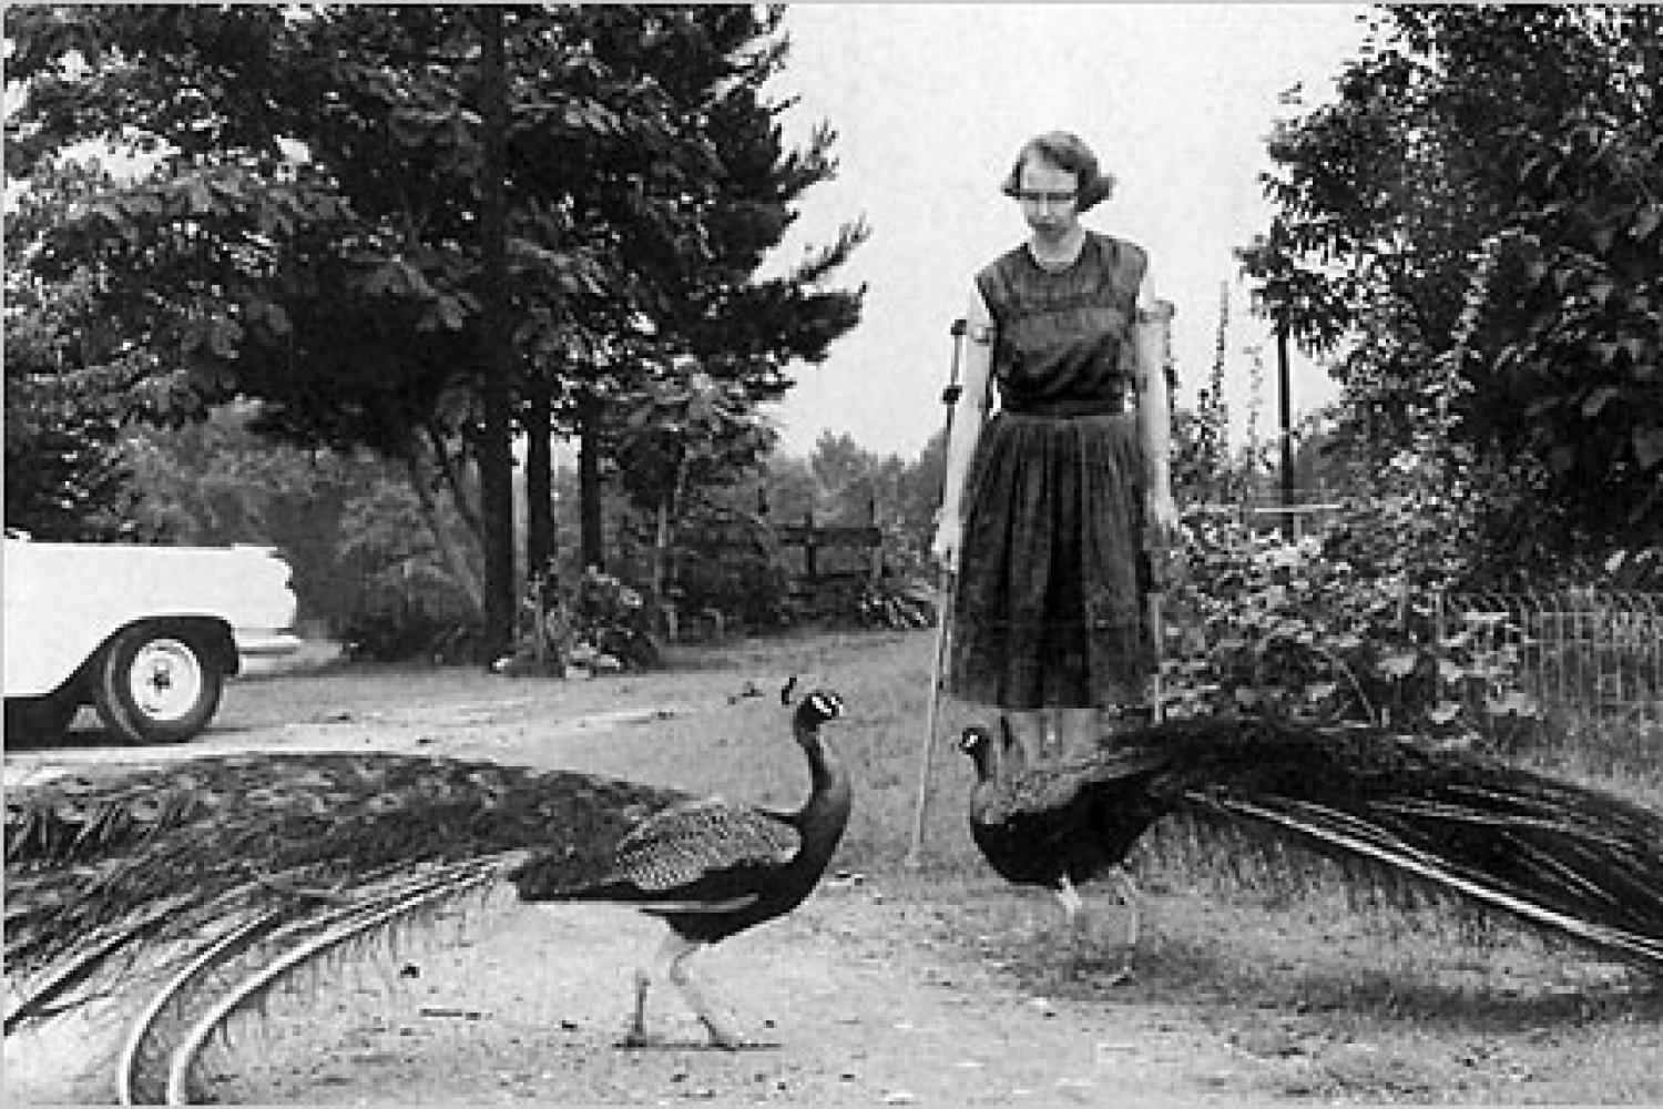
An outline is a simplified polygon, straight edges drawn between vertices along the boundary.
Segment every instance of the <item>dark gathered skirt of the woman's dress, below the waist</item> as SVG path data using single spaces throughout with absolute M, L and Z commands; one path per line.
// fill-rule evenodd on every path
M 946 692 L 1013 712 L 1142 703 L 1154 640 L 1136 416 L 999 412 L 966 482 Z

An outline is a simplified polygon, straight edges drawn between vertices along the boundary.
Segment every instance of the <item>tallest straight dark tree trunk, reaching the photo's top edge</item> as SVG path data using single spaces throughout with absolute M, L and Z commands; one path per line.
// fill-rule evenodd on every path
M 502 8 L 479 8 L 479 96 L 482 158 L 481 193 L 481 308 L 486 334 L 486 372 L 481 382 L 484 442 L 479 452 L 479 500 L 486 527 L 486 658 L 492 662 L 514 647 L 514 454 L 512 328 L 509 326 L 507 195 L 504 145 L 507 138 L 507 78 L 504 75 Z

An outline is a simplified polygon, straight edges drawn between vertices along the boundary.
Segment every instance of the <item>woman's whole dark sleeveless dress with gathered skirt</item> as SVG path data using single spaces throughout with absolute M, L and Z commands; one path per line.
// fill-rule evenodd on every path
M 1026 712 L 1141 703 L 1144 462 L 1133 389 L 1142 249 L 1088 233 L 1074 264 L 1019 246 L 976 274 L 999 407 L 976 442 L 948 692 Z

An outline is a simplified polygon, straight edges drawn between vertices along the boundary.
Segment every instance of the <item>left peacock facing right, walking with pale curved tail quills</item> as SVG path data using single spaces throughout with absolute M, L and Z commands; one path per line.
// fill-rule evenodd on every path
M 276 983 L 504 883 L 529 903 L 624 903 L 665 921 L 660 953 L 635 974 L 624 1044 L 647 1042 L 649 984 L 665 976 L 712 1046 L 738 1047 L 687 961 L 818 885 L 851 808 L 822 737 L 840 715 L 828 690 L 795 708 L 810 790 L 792 813 L 399 753 L 218 755 L 10 790 L 5 1033 L 113 991 L 140 998 L 115 1059 L 118 1097 L 183 1102 L 208 1038 Z

